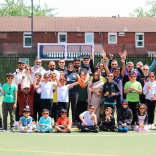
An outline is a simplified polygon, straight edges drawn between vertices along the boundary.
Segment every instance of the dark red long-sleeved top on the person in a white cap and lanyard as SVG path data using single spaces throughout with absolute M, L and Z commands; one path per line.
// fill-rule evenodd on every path
M 34 92 L 35 92 L 35 87 L 32 84 L 30 85 L 30 92 L 28 94 L 28 105 L 30 107 L 30 115 L 33 115 Z M 19 115 L 23 115 L 23 109 L 26 108 L 26 101 L 25 101 L 24 93 L 21 90 L 21 84 L 18 85 L 17 97 L 18 97 L 18 104 L 19 104 Z

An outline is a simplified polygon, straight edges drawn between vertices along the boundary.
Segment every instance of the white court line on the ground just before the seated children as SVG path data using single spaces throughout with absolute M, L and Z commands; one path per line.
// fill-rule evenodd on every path
M 134 132 L 135 133 L 135 132 Z M 140 133 L 140 132 L 136 132 Z M 156 135 L 156 133 L 141 133 L 141 134 L 125 134 L 123 133 L 122 135 L 57 135 L 57 134 L 45 134 L 45 133 L 19 133 L 19 134 L 26 134 L 26 135 L 44 135 L 44 136 L 52 136 L 52 137 L 131 137 L 131 136 L 148 136 L 148 135 Z

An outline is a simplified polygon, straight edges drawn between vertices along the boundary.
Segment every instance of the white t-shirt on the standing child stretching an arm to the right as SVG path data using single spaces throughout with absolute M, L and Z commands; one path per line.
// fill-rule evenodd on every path
M 57 87 L 57 101 L 69 102 L 68 92 L 69 92 L 68 85 Z

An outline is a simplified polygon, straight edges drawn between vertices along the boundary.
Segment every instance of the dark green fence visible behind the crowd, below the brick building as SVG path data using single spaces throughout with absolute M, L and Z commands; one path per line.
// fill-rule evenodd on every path
M 28 58 L 29 59 L 29 65 L 33 66 L 34 61 L 36 59 L 36 54 L 26 53 L 26 54 L 0 54 L 0 83 L 5 83 L 6 78 L 5 75 L 8 72 L 15 72 L 17 69 L 17 62 L 18 60 L 22 58 Z M 118 60 L 119 66 L 121 66 L 121 58 L 118 54 L 114 55 L 114 59 Z M 100 54 L 97 54 L 94 56 L 94 65 L 96 66 L 98 62 L 102 60 L 102 57 Z M 134 64 L 136 64 L 138 61 L 143 62 L 143 64 L 151 65 L 153 61 L 153 55 L 148 54 L 128 54 L 127 61 L 132 61 Z M 66 61 L 66 65 L 72 61 Z M 42 66 L 48 70 L 48 63 L 49 61 L 43 61 Z M 56 65 L 58 66 L 58 61 L 56 61 Z M 154 69 L 154 71 L 156 71 Z

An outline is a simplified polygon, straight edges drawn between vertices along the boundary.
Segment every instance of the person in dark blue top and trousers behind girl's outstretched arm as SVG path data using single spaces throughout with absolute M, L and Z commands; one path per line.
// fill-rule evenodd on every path
M 74 65 L 72 63 L 68 64 L 68 71 L 65 74 L 65 78 L 67 79 L 67 84 L 72 84 L 74 82 L 79 81 L 79 76 L 74 73 Z M 72 109 L 72 125 L 73 127 L 76 127 L 76 106 L 78 101 L 78 86 L 74 86 L 69 90 L 69 104 L 71 103 L 71 109 Z M 69 105 L 70 107 L 70 105 Z M 69 112 L 69 108 L 68 108 Z

